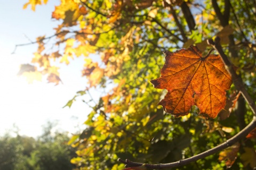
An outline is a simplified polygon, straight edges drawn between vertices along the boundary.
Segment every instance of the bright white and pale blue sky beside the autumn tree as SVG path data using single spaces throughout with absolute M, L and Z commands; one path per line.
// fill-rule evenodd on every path
M 77 91 L 84 90 L 87 80 L 81 77 L 83 58 L 76 58 L 69 65 L 61 65 L 60 78 L 63 84 L 34 82 L 28 84 L 24 77 L 18 77 L 20 64 L 30 63 L 37 45 L 20 46 L 11 54 L 17 44 L 35 41 L 38 36 L 51 36 L 58 22 L 51 19 L 58 0 L 47 5 L 30 6 L 23 10 L 28 0 L 0 1 L 0 135 L 17 126 L 20 135 L 37 137 L 42 134 L 42 125 L 47 121 L 58 122 L 57 129 L 75 133 L 85 128 L 90 108 L 78 98 L 71 108 L 63 106 Z

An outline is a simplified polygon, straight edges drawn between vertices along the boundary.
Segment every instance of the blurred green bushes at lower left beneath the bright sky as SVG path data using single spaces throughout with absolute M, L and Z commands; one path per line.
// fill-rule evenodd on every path
M 43 134 L 32 138 L 11 131 L 0 137 L 0 169 L 61 170 L 73 169 L 70 159 L 75 148 L 69 146 L 68 133 L 54 131 L 54 122 L 43 127 Z

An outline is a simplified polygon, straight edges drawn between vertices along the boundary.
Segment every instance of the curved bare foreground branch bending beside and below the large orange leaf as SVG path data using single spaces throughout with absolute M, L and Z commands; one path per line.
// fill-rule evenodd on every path
M 219 53 L 223 63 L 225 64 L 226 70 L 230 73 L 231 78 L 235 84 L 235 87 L 237 90 L 241 91 L 241 94 L 244 96 L 245 100 L 249 104 L 250 108 L 252 109 L 252 112 L 254 114 L 253 119 L 249 125 L 247 125 L 243 130 L 241 130 L 239 133 L 237 133 L 234 137 L 230 138 L 226 142 L 221 143 L 219 146 L 214 147 L 210 150 L 206 150 L 202 152 L 201 154 L 195 155 L 193 157 L 179 160 L 178 162 L 169 163 L 169 164 L 142 164 L 142 163 L 136 163 L 131 162 L 130 160 L 122 160 L 118 158 L 118 161 L 121 163 L 126 164 L 126 167 L 137 167 L 137 166 L 145 166 L 147 169 L 165 169 L 165 168 L 172 168 L 172 167 L 178 167 L 178 166 L 184 166 L 191 162 L 195 162 L 196 160 L 205 158 L 207 156 L 213 155 L 218 151 L 221 151 L 225 148 L 228 148 L 237 141 L 243 139 L 249 132 L 251 132 L 256 127 L 256 105 L 252 98 L 249 96 L 247 91 L 245 90 L 243 81 L 239 76 L 236 74 L 235 70 L 233 69 L 233 65 L 229 62 L 228 57 L 225 55 L 225 53 L 222 50 L 222 47 L 220 45 L 220 38 L 215 38 L 215 41 L 212 39 L 207 41 L 208 44 L 212 45 L 215 50 Z

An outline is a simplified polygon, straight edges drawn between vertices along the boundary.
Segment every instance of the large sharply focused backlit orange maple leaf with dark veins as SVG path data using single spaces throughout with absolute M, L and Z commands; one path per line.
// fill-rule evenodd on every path
M 202 52 L 196 46 L 164 52 L 161 77 L 151 80 L 155 88 L 168 91 L 158 103 L 175 117 L 187 115 L 196 105 L 204 117 L 215 118 L 226 104 L 226 90 L 232 84 L 219 55 Z

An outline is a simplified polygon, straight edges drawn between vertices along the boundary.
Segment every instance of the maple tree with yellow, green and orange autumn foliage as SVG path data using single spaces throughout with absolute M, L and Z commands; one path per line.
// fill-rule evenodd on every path
M 29 1 L 23 7 L 35 11 L 43 3 Z M 249 0 L 61 0 L 52 13 L 60 21 L 55 34 L 33 42 L 38 44 L 35 57 L 19 74 L 46 75 L 58 84 L 61 73 L 54 61 L 69 64 L 75 56 L 84 57 L 88 84 L 66 104 L 81 99 L 92 108 L 87 128 L 69 141 L 78 150 L 71 159 L 77 169 L 166 167 L 159 163 L 181 169 L 253 168 L 256 142 L 242 137 L 255 126 L 254 5 Z M 220 41 L 207 44 L 215 36 Z M 55 40 L 54 48 L 49 39 Z M 219 55 L 207 54 L 212 47 Z M 157 104 L 166 91 L 150 80 L 167 90 L 159 103 L 164 109 Z M 228 90 L 230 80 L 234 85 Z M 94 88 L 102 90 L 99 99 L 91 95 Z M 222 108 L 225 112 L 215 118 Z M 230 152 L 236 142 L 239 151 Z M 124 163 L 119 164 L 118 157 L 142 163 L 119 159 Z

